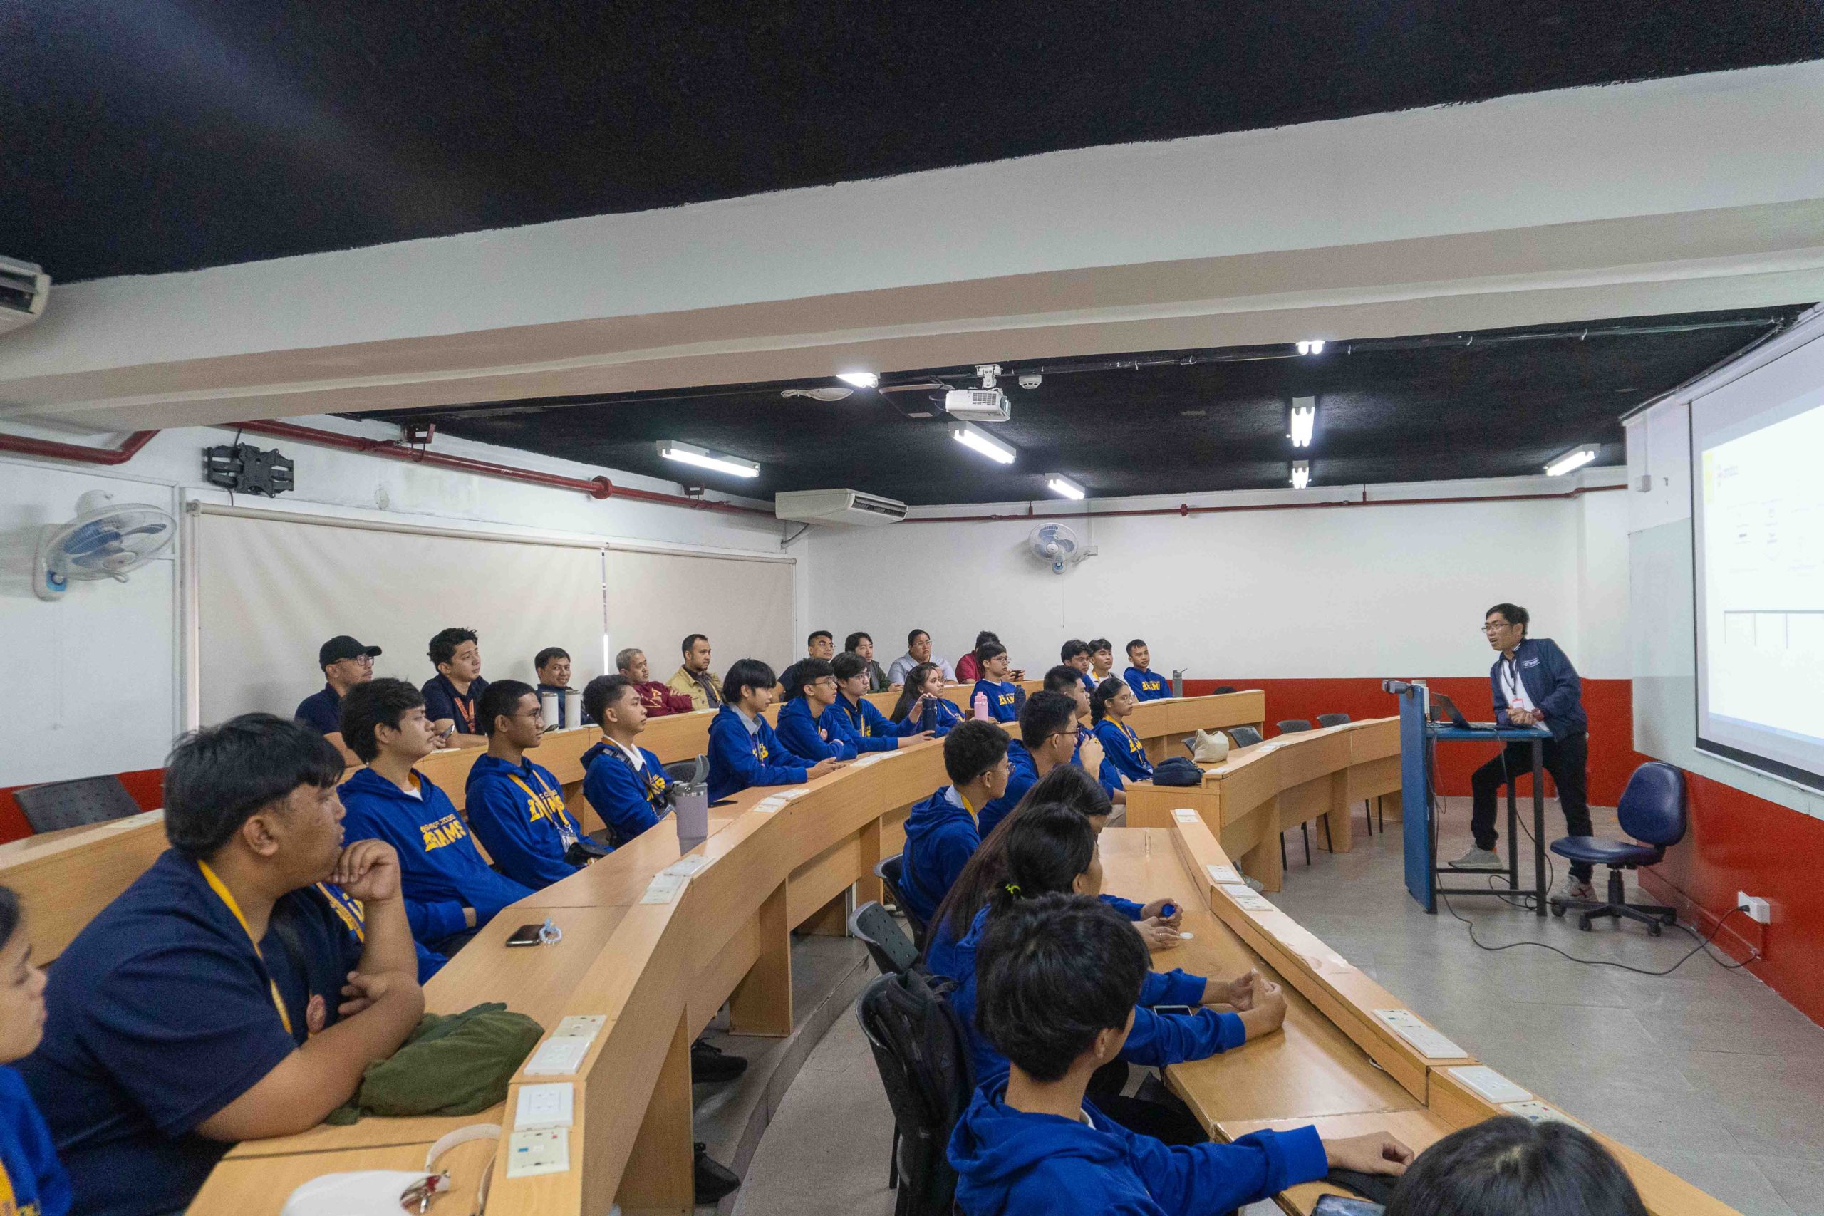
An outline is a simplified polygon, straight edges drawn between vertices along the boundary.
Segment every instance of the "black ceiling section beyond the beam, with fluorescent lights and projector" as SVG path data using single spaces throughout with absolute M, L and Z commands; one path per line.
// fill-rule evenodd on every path
M 1313 485 L 1501 478 L 1538 474 L 1581 443 L 1601 445 L 1600 465 L 1623 463 L 1620 414 L 1798 312 L 1337 341 L 1319 356 L 1259 346 L 1009 363 L 1001 386 L 1012 397 L 1012 419 L 987 427 L 1020 450 L 1010 467 L 948 438 L 934 388 L 855 390 L 835 403 L 781 396 L 788 386 L 839 381 L 365 417 L 434 421 L 440 434 L 761 498 L 848 487 L 917 505 L 1023 501 L 1049 498 L 1049 472 L 1071 476 L 1094 496 L 1279 489 L 1295 458 L 1311 461 Z M 1100 370 L 1071 370 L 1083 366 Z M 1042 372 L 1038 388 L 1018 386 L 1018 376 L 1034 370 Z M 958 388 L 976 383 L 972 368 L 939 368 L 896 372 L 883 386 L 934 379 Z M 1295 396 L 1317 397 L 1310 448 L 1293 450 L 1286 438 Z M 759 461 L 761 476 L 693 474 L 660 459 L 658 439 Z

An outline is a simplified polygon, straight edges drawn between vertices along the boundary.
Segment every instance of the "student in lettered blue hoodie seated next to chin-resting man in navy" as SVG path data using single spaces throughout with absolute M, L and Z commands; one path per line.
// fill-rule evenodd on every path
M 412 937 L 441 955 L 531 888 L 482 860 L 449 795 L 414 764 L 438 749 L 425 698 L 405 680 L 358 684 L 343 696 L 343 740 L 367 764 L 341 786 L 350 840 L 385 840 L 399 853 Z

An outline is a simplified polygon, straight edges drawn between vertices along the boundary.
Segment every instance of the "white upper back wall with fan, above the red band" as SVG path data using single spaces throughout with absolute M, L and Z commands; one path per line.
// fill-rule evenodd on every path
M 1589 474 L 1589 485 L 1616 481 L 1616 470 Z M 1569 489 L 1561 479 L 1527 478 L 1373 487 L 1370 498 Z M 1363 490 L 1326 494 L 1361 498 Z M 1186 501 L 1299 498 L 1200 494 Z M 1100 547 L 1100 556 L 1063 574 L 1027 552 L 1027 536 L 1043 516 L 821 529 L 812 541 L 808 613 L 814 625 L 837 636 L 866 629 L 888 656 L 901 653 L 908 629 L 928 629 L 950 662 L 978 629 L 994 629 L 1029 673 L 1052 665 L 1069 636 L 1107 636 L 1118 660 L 1129 638 L 1144 636 L 1155 667 L 1186 667 L 1193 678 L 1445 676 L 1488 669 L 1477 633 L 1483 611 L 1514 600 L 1532 613 L 1536 633 L 1565 645 L 1581 673 L 1622 678 L 1625 505 L 1607 501 L 1620 498 L 1611 490 L 1063 520 L 1083 543 Z M 965 510 L 992 512 L 943 514 Z

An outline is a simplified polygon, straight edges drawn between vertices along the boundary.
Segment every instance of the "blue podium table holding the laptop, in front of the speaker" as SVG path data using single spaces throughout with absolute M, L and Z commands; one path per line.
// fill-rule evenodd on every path
M 1534 915 L 1545 915 L 1545 740 L 1539 726 L 1465 731 L 1425 720 L 1421 687 L 1399 695 L 1401 826 L 1406 851 L 1406 891 L 1432 915 L 1439 895 L 1532 895 Z M 1432 817 L 1437 744 L 1532 744 L 1532 884 L 1519 884 L 1519 802 L 1507 782 L 1507 870 L 1452 870 L 1448 873 L 1505 879 L 1507 886 L 1439 886 L 1437 822 Z M 1518 773 L 1516 773 L 1518 777 Z

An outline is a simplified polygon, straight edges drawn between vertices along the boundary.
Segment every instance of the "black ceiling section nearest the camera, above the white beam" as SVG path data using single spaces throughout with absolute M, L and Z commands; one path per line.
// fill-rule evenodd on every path
M 0 253 L 224 263 L 1824 58 L 1817 0 L 0 0 Z

